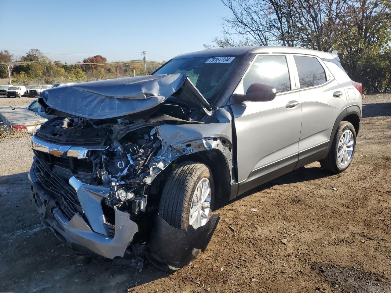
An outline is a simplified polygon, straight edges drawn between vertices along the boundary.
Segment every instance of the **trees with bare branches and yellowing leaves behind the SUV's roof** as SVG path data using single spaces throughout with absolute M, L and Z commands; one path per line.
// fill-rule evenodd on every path
M 338 53 L 368 91 L 391 91 L 391 2 L 383 0 L 221 0 L 215 45 L 297 46 Z

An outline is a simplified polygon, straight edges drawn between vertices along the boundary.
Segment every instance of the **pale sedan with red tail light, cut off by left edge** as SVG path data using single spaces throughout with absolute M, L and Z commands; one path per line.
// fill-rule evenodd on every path
M 47 119 L 20 107 L 0 107 L 0 127 L 3 129 L 35 131 Z

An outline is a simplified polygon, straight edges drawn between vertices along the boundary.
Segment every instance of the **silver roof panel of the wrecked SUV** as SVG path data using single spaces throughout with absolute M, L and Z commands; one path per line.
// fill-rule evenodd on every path
M 326 58 L 326 59 L 332 59 L 336 57 L 336 55 L 331 53 L 304 49 L 304 48 L 286 47 L 286 46 L 253 46 L 253 47 L 229 47 L 229 48 L 202 50 L 202 51 L 197 51 L 197 52 L 192 52 L 187 54 L 181 54 L 172 59 L 181 59 L 181 58 L 188 58 L 188 57 L 245 55 L 248 53 L 307 54 L 307 55 L 315 55 L 320 58 Z

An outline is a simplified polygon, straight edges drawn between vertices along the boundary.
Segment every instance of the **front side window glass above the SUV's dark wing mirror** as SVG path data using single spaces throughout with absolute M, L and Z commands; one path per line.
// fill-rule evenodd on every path
M 243 77 L 244 93 L 251 84 L 255 83 L 273 86 L 277 93 L 290 91 L 291 82 L 285 56 L 265 55 L 256 57 L 255 62 Z

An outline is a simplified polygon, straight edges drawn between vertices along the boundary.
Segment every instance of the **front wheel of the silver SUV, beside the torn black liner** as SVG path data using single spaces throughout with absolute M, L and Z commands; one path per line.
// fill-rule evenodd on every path
M 193 202 L 195 192 L 200 190 L 199 184 L 206 184 L 206 180 L 210 184 L 210 193 L 208 193 L 210 194 L 210 198 L 207 197 L 204 204 L 209 199 L 209 209 L 203 205 L 197 206 L 195 202 Z M 208 189 L 205 188 L 204 190 Z M 201 219 L 201 225 L 204 225 L 204 223 L 209 220 L 212 213 L 213 198 L 214 184 L 210 169 L 201 163 L 191 161 L 182 162 L 178 164 L 174 170 L 172 170 L 169 179 L 167 179 L 165 183 L 163 192 L 161 193 L 158 212 L 160 216 L 172 227 L 186 229 L 189 225 L 190 209 L 193 207 L 196 211 L 199 209 L 200 215 L 203 214 L 204 218 Z M 192 214 L 194 215 L 196 211 Z M 207 217 L 205 217 L 206 213 L 208 213 Z M 198 218 L 195 219 L 195 221 L 199 223 Z M 197 224 L 194 222 L 193 227 L 197 228 L 196 226 Z

